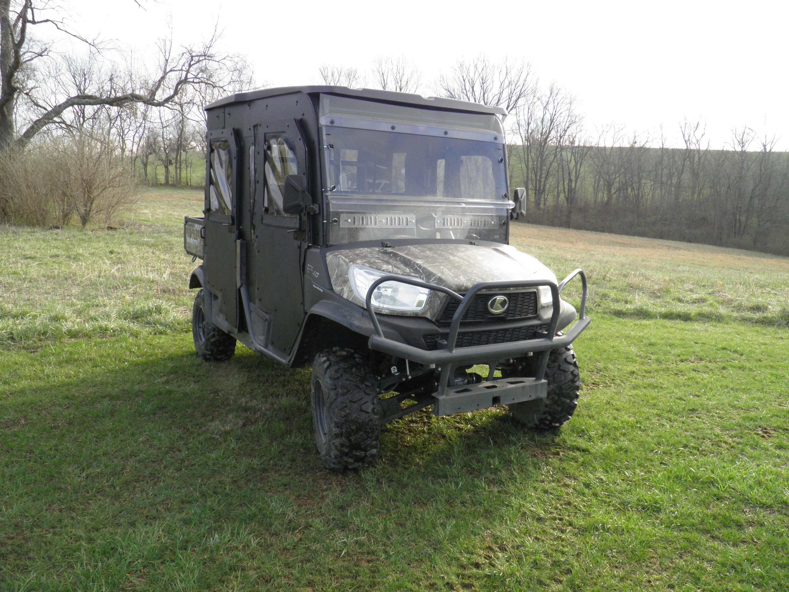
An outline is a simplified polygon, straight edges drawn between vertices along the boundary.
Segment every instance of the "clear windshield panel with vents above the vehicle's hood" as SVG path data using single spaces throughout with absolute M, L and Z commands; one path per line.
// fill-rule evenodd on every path
M 503 242 L 503 144 L 372 129 L 324 129 L 329 242 Z

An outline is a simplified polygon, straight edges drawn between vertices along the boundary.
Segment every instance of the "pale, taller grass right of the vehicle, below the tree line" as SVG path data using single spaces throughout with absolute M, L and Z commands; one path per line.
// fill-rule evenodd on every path
M 559 279 L 584 268 L 590 312 L 789 327 L 789 257 L 525 224 L 511 242 Z

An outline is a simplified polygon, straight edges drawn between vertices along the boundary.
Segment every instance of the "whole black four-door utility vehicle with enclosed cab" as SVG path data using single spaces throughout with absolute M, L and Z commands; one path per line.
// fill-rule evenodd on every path
M 246 92 L 206 111 L 204 217 L 184 225 L 202 260 L 189 278 L 195 349 L 225 360 L 240 341 L 312 363 L 325 466 L 371 463 L 381 425 L 428 406 L 567 422 L 586 279 L 557 282 L 508 244 L 524 189 L 510 199 L 506 111 L 336 86 Z M 578 319 L 561 299 L 575 276 Z

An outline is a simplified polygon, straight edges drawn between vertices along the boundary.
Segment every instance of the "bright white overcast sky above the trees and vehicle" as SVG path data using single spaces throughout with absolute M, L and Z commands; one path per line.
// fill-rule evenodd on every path
M 670 137 L 705 120 L 720 147 L 734 126 L 789 150 L 789 2 L 204 2 L 80 0 L 71 18 L 145 51 L 168 32 L 188 43 L 217 20 L 226 50 L 269 85 L 316 83 L 323 63 L 368 69 L 403 54 L 431 81 L 459 57 L 525 58 L 540 81 L 577 97 L 590 130 L 608 122 Z

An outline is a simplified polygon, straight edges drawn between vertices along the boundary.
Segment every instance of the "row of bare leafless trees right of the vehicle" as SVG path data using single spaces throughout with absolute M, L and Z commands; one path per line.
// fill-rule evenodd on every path
M 615 126 L 595 141 L 570 128 L 544 142 L 537 129 L 509 146 L 525 221 L 789 255 L 789 154 L 774 138 L 735 129 L 712 148 L 700 122 L 683 122 L 673 148 Z

